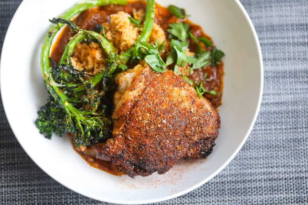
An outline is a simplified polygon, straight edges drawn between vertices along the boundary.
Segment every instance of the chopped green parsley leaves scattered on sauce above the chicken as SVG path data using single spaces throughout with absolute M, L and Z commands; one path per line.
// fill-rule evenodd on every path
M 170 8 L 177 10 L 178 12 L 182 12 L 179 8 Z M 189 25 L 187 23 L 172 23 L 169 26 L 170 29 L 168 29 L 167 31 L 170 34 L 169 37 L 172 38 L 170 42 L 172 48 L 171 52 L 167 57 L 165 65 L 158 63 L 154 64 L 154 66 L 158 66 L 164 69 L 164 66 L 174 64 L 173 71 L 176 74 L 183 76 L 183 79 L 190 85 L 196 86 L 199 97 L 201 97 L 205 93 L 217 95 L 217 92 L 215 90 L 206 90 L 203 86 L 203 82 L 201 82 L 201 84 L 197 86 L 197 82 L 192 82 L 187 76 L 193 74 L 193 70 L 195 69 L 202 69 L 209 65 L 217 66 L 221 58 L 225 56 L 224 52 L 218 50 L 216 47 L 213 47 L 212 51 L 210 49 L 203 52 L 200 42 L 205 44 L 205 46 L 207 47 L 213 46 L 213 43 L 206 37 L 197 38 L 191 32 L 188 33 Z M 187 41 L 188 37 L 196 45 L 195 56 L 187 54 L 190 42 Z M 154 59 L 154 56 L 152 58 Z M 207 76 L 208 74 L 205 73 L 203 79 L 205 81 L 211 81 L 209 78 L 207 78 Z

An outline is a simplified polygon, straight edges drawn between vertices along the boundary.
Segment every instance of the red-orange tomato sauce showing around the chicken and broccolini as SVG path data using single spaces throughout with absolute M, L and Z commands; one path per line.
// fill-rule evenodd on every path
M 133 1 L 129 2 L 127 5 L 109 5 L 109 6 L 100 6 L 95 7 L 89 10 L 82 12 L 79 16 L 74 19 L 74 22 L 80 26 L 82 29 L 86 30 L 94 30 L 97 24 L 102 24 L 105 22 L 110 22 L 110 15 L 115 14 L 119 11 L 124 11 L 128 14 L 133 15 L 133 10 L 146 10 L 146 2 L 145 1 Z M 168 32 L 170 23 L 184 21 L 189 24 L 189 30 L 192 31 L 192 34 L 196 37 L 206 37 L 212 41 L 212 38 L 205 34 L 202 28 L 199 25 L 196 25 L 190 22 L 187 19 L 178 19 L 173 16 L 170 11 L 158 4 L 156 4 L 156 17 L 155 22 L 160 25 L 160 27 L 164 30 L 167 40 L 168 40 Z M 71 33 L 69 27 L 65 27 L 62 33 L 57 38 L 52 51 L 51 51 L 51 59 L 55 62 L 59 62 L 61 56 L 64 52 L 65 46 L 69 42 L 70 38 L 74 34 Z M 212 41 L 213 42 L 213 41 Z M 201 43 L 201 47 L 204 50 L 212 50 L 214 47 L 214 43 L 211 47 L 206 47 Z M 191 40 L 189 50 L 194 52 L 196 50 L 195 43 Z M 206 90 L 215 90 L 217 95 L 212 95 L 205 93 L 204 97 L 207 98 L 214 107 L 219 107 L 221 105 L 221 98 L 223 92 L 223 76 L 224 76 L 224 64 L 220 62 L 218 66 L 205 66 L 201 69 L 194 70 L 194 73 L 189 76 L 189 78 L 196 82 L 196 84 L 200 84 L 203 82 L 203 86 Z M 83 159 L 87 161 L 91 166 L 101 169 L 103 171 L 107 171 L 114 175 L 122 175 L 125 174 L 125 171 L 122 167 L 116 166 L 111 162 L 106 162 L 101 159 L 96 159 L 91 152 L 91 148 L 85 148 L 85 150 L 81 151 L 79 148 L 74 146 L 74 149 L 77 153 L 79 153 Z M 89 154 L 91 153 L 91 154 Z

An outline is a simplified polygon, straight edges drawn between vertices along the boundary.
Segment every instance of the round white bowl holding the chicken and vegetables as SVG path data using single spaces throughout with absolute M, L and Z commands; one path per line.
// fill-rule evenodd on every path
M 64 186 L 93 199 L 122 204 L 153 203 L 183 195 L 220 172 L 245 143 L 260 108 L 263 65 L 257 34 L 238 0 L 160 0 L 192 14 L 217 47 L 226 54 L 225 89 L 219 107 L 221 129 L 208 159 L 180 162 L 165 175 L 114 176 L 90 167 L 72 148 L 67 137 L 52 140 L 34 125 L 47 90 L 40 71 L 42 40 L 50 25 L 76 0 L 24 0 L 3 44 L 1 57 L 2 102 L 10 126 L 33 161 Z M 61 6 L 59 6 L 61 5 Z

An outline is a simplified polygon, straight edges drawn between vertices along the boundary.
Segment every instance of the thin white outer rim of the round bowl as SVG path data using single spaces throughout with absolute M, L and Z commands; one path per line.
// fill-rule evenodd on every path
M 90 195 L 87 195 L 87 194 L 84 194 L 84 193 L 81 193 L 79 191 L 77 191 L 74 187 L 71 187 L 70 185 L 68 184 L 65 184 L 63 182 L 61 182 L 59 179 L 55 179 L 55 177 L 48 171 L 48 170 L 45 170 L 43 169 L 38 163 L 36 163 L 36 161 L 34 160 L 34 157 L 31 156 L 27 151 L 26 149 L 23 147 L 23 145 L 19 142 L 19 139 L 18 137 L 15 135 L 15 132 L 14 130 L 12 129 L 12 132 L 14 133 L 14 136 L 16 137 L 16 139 L 18 140 L 18 143 L 21 145 L 22 149 L 27 153 L 27 155 L 30 157 L 30 159 L 32 159 L 32 161 L 34 161 L 34 163 L 40 167 L 40 169 L 42 169 L 45 173 L 47 173 L 47 175 L 49 175 L 52 179 L 54 179 L 55 181 L 57 181 L 58 183 L 62 184 L 63 186 L 67 187 L 68 189 L 78 193 L 78 194 L 81 194 L 83 196 L 86 196 L 88 198 L 91 198 L 91 199 L 95 199 L 95 200 L 99 200 L 99 201 L 103 201 L 103 202 L 107 202 L 107 203 L 120 203 L 120 204 L 148 204 L 148 203 L 156 203 L 156 202 L 161 202 L 161 201 L 165 201 L 165 200 L 169 200 L 169 199 L 173 199 L 173 198 L 176 198 L 176 197 L 179 197 L 181 195 L 184 195 L 190 191 L 193 191 L 195 189 L 197 189 L 198 187 L 201 187 L 203 184 L 207 183 L 210 179 L 212 179 L 214 176 L 216 176 L 219 172 L 221 172 L 230 162 L 231 160 L 237 155 L 237 153 L 240 151 L 241 147 L 244 145 L 244 143 L 246 142 L 247 138 L 249 137 L 252 129 L 253 129 L 253 126 L 257 120 L 257 116 L 259 114 L 259 111 L 260 111 L 260 107 L 261 107 L 261 101 L 262 101 L 262 95 L 263 95 L 263 87 L 264 87 L 264 66 L 263 66 L 263 58 L 262 58 L 262 52 L 261 52 L 261 46 L 260 46 L 260 42 L 259 42 L 259 38 L 257 36 L 257 32 L 255 30 L 255 27 L 253 26 L 253 23 L 247 13 L 247 11 L 245 10 L 244 6 L 241 4 L 241 2 L 239 0 L 233 0 L 237 6 L 241 9 L 241 11 L 243 12 L 247 22 L 249 23 L 249 27 L 250 27 L 250 30 L 252 31 L 253 33 L 253 37 L 254 37 L 254 40 L 255 40 L 255 44 L 257 46 L 257 52 L 258 52 L 258 57 L 259 57 L 259 61 L 260 61 L 260 71 L 261 71 L 261 76 L 260 76 L 260 90 L 259 90 L 259 97 L 258 97 L 258 103 L 257 103 L 257 107 L 256 107 L 256 110 L 255 110 L 255 114 L 254 114 L 254 117 L 253 117 L 253 120 L 249 126 L 249 129 L 247 130 L 246 134 L 245 134 L 245 137 L 244 139 L 241 141 L 241 143 L 239 144 L 239 146 L 237 147 L 237 149 L 233 152 L 233 154 L 225 161 L 225 163 L 223 163 L 213 174 L 211 174 L 209 177 L 203 179 L 202 181 L 200 181 L 199 183 L 195 184 L 194 186 L 191 186 L 183 191 L 180 191 L 178 193 L 175 193 L 175 194 L 171 194 L 171 195 L 168 195 L 168 196 L 165 196 L 165 197 L 161 197 L 161 198 L 157 198 L 157 199 L 147 199 L 147 200 L 134 200 L 134 201 L 126 201 L 126 200 L 117 200 L 117 199 L 110 199 L 110 198 L 106 198 L 106 197 L 95 197 L 95 196 L 90 196 Z M 6 31 L 6 35 L 5 35 L 5 38 L 4 38 L 4 41 L 3 41 L 3 46 L 2 46 L 2 54 L 1 54 L 1 61 L 0 61 L 0 91 L 1 93 L 2 92 L 2 89 L 3 89 L 3 81 L 1 80 L 2 79 L 2 62 L 3 62 L 3 50 L 4 48 L 7 47 L 7 34 L 10 32 L 10 27 L 11 25 L 14 23 L 14 20 L 16 18 L 16 14 L 18 13 L 18 11 L 20 10 L 20 8 L 22 7 L 23 4 L 25 4 L 25 2 L 28 2 L 27 0 L 23 0 L 21 2 L 21 4 L 18 6 L 18 9 L 16 10 L 13 18 L 11 19 L 11 22 L 8 26 L 8 29 Z M 6 101 L 3 101 L 3 97 L 1 95 L 1 99 L 2 99 L 2 104 L 3 104 L 3 109 L 4 109 L 4 112 L 6 114 L 6 118 L 7 118 L 7 121 L 11 126 L 11 122 L 12 122 L 12 119 L 10 119 L 7 115 L 7 111 L 6 111 Z

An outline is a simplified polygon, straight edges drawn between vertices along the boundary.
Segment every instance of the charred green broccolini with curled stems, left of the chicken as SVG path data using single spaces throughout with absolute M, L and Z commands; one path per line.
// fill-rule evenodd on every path
M 106 105 L 102 103 L 107 90 L 106 81 L 118 69 L 126 68 L 123 65 L 131 58 L 134 48 L 116 55 L 112 43 L 104 36 L 95 31 L 83 30 L 70 19 L 94 6 L 126 3 L 126 0 L 88 0 L 76 4 L 60 18 L 51 20 L 53 25 L 48 30 L 41 53 L 42 74 L 51 96 L 47 104 L 41 107 L 39 118 L 35 121 L 40 133 L 46 138 L 50 139 L 53 132 L 59 135 L 69 132 L 73 134 L 76 146 L 89 146 L 111 135 L 111 121 L 105 114 Z M 146 42 L 149 39 L 154 18 L 155 1 L 148 0 L 144 29 L 138 41 Z M 68 24 L 73 32 L 78 33 L 68 43 L 57 65 L 49 58 L 51 43 L 64 24 Z M 107 54 L 107 68 L 95 76 L 87 76 L 71 65 L 70 57 L 76 44 L 85 39 L 99 42 Z M 99 83 L 102 83 L 103 87 L 100 91 L 95 88 Z

